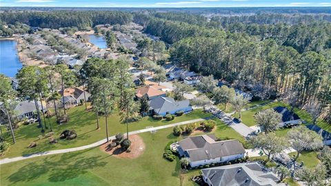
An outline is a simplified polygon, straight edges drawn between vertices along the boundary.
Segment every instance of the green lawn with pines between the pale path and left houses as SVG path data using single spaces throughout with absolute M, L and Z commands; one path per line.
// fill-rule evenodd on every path
M 62 125 L 57 125 L 55 123 L 54 116 L 50 118 L 53 131 L 55 132 L 56 138 L 58 138 L 59 134 L 61 134 L 63 130 L 76 130 L 78 134 L 76 139 L 72 141 L 59 140 L 59 143 L 57 144 L 49 144 L 48 138 L 38 140 L 38 136 L 41 135 L 41 129 L 37 127 L 37 123 L 34 123 L 32 125 L 24 125 L 18 130 L 15 130 L 17 143 L 15 143 L 14 145 L 10 145 L 10 149 L 8 150 L 8 152 L 6 152 L 4 156 L 1 156 L 1 158 L 23 156 L 35 152 L 45 152 L 50 149 L 79 147 L 81 145 L 88 145 L 90 143 L 94 143 L 103 138 L 106 138 L 104 117 L 100 117 L 101 130 L 95 130 L 97 127 L 97 117 L 93 112 L 86 111 L 84 106 L 71 108 L 68 111 L 68 115 L 70 117 L 70 121 Z M 195 118 L 203 118 L 206 116 L 211 116 L 211 114 L 204 113 L 202 112 L 202 110 L 194 110 L 190 114 L 184 114 L 183 116 L 174 118 L 173 121 L 155 121 L 151 117 L 144 117 L 143 119 L 141 119 L 141 121 L 130 123 L 129 130 L 132 131 L 144 129 L 148 126 L 156 127 L 160 125 L 168 125 L 170 123 L 188 121 Z M 121 123 L 118 114 L 113 114 L 112 116 L 109 116 L 108 131 L 110 136 L 116 134 L 117 132 L 126 132 L 126 125 Z M 47 132 L 49 132 L 49 129 L 47 130 Z M 7 138 L 8 142 L 12 142 L 11 137 L 9 134 L 7 134 L 7 132 L 5 132 L 4 136 Z M 27 146 L 32 141 L 37 141 L 38 146 L 32 149 L 28 149 Z

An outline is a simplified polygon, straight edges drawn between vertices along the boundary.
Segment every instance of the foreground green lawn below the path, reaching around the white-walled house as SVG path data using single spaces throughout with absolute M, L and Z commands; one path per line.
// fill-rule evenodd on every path
M 215 134 L 218 137 L 241 138 L 232 128 L 219 122 Z M 172 128 L 154 134 L 139 134 L 146 150 L 136 159 L 115 158 L 101 152 L 99 147 L 72 152 L 31 158 L 1 165 L 0 185 L 179 185 L 179 159 L 168 162 L 162 154 L 173 136 Z M 189 178 L 199 175 L 195 169 L 184 175 L 183 185 L 195 185 Z

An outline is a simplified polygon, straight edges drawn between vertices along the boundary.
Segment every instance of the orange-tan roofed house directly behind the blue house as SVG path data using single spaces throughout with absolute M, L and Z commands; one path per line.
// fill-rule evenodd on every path
M 136 90 L 137 99 L 141 99 L 143 96 L 145 96 L 148 100 L 152 100 L 159 96 L 165 97 L 166 92 L 162 91 L 157 85 L 145 85 Z

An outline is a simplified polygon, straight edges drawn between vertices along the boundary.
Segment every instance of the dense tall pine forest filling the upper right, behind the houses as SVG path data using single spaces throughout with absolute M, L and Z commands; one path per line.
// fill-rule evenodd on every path
M 172 44 L 170 61 L 179 66 L 248 90 L 293 91 L 299 105 L 316 100 L 330 104 L 331 23 L 320 21 L 326 20 L 323 15 L 296 16 L 291 23 L 285 17 L 263 14 L 224 23 L 168 12 L 136 14 L 134 21 Z M 300 21 L 308 17 L 310 23 Z

